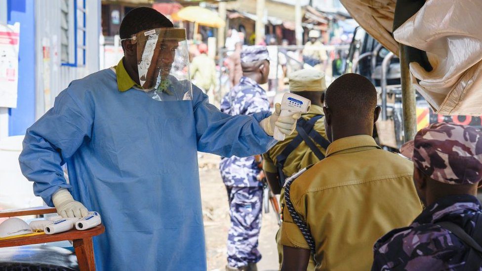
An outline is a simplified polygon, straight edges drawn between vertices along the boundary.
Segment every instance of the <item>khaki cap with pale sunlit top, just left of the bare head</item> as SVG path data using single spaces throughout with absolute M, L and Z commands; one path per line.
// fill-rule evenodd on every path
M 325 91 L 324 74 L 315 69 L 303 69 L 289 75 L 290 91 Z

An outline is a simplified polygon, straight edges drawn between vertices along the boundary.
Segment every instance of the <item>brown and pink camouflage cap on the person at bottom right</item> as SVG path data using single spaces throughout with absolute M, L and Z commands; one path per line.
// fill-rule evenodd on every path
M 454 185 L 482 180 L 482 131 L 455 123 L 434 123 L 400 149 L 431 179 Z

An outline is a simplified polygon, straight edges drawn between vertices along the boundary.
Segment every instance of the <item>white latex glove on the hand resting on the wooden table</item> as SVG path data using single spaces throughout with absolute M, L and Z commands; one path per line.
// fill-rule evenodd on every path
M 86 217 L 88 210 L 79 201 L 74 200 L 70 192 L 61 188 L 52 195 L 52 202 L 57 213 L 62 217 Z

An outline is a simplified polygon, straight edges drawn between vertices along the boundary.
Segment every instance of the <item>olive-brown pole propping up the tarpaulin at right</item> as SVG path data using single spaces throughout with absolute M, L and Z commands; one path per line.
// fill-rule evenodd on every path
M 417 133 L 417 102 L 403 46 L 400 44 L 400 74 L 402 79 L 403 142 L 407 142 L 412 140 Z

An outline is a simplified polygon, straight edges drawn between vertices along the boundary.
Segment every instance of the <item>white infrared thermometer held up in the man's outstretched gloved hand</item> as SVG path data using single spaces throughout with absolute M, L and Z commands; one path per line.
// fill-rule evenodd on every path
M 296 113 L 306 114 L 310 111 L 311 101 L 293 93 L 284 93 L 281 100 L 280 116 L 291 116 Z M 278 140 L 284 140 L 284 134 L 278 127 L 275 127 L 273 137 Z

